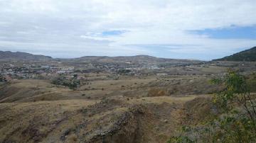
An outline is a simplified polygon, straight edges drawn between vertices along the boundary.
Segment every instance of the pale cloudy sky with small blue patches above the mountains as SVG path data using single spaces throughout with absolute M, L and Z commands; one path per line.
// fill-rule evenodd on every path
M 255 0 L 0 0 L 0 50 L 210 60 L 256 46 Z

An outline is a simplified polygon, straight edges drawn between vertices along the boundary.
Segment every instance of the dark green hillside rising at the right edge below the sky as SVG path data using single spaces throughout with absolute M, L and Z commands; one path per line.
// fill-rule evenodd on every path
M 252 47 L 249 50 L 238 52 L 234 55 L 223 57 L 221 59 L 214 59 L 215 61 L 256 61 L 256 47 Z

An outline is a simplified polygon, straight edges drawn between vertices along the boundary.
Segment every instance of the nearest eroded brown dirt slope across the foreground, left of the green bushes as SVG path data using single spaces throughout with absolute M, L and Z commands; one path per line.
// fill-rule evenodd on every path
M 193 97 L 0 104 L 0 142 L 166 142 Z

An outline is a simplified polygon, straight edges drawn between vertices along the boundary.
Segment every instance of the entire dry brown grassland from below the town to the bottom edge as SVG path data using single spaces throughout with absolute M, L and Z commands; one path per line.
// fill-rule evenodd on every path
M 13 79 L 0 88 L 0 142 L 167 142 L 182 125 L 218 114 L 210 98 L 223 87 L 210 79 L 234 63 L 218 64 L 118 79 L 78 74 L 86 81 L 75 89 L 47 78 Z M 235 68 L 255 71 L 255 63 L 243 65 Z

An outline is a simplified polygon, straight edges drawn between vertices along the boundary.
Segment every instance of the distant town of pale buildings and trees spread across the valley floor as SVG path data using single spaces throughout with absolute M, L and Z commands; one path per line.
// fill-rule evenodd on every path
M 200 64 L 200 63 L 199 63 Z M 198 65 L 198 64 L 197 64 Z M 86 80 L 87 74 L 106 74 L 107 77 L 118 79 L 118 76 L 149 76 L 175 74 L 165 69 L 182 66 L 187 71 L 191 64 L 132 64 L 129 62 L 118 63 L 83 63 L 83 62 L 1 62 L 0 80 L 13 79 L 52 79 L 58 75 L 66 75 L 77 79 Z M 189 73 L 189 72 L 188 72 Z M 87 79 L 88 80 L 88 79 Z

